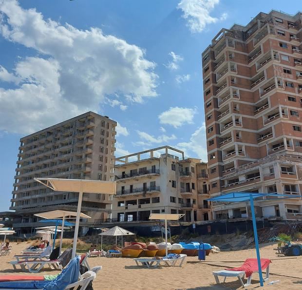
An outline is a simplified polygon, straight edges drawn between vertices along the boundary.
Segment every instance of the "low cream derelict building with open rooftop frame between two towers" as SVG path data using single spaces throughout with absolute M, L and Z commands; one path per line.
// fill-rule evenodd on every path
M 187 222 L 211 219 L 207 164 L 200 159 L 184 159 L 182 151 L 164 146 L 116 158 L 114 174 L 113 222 L 140 223 L 150 213 L 185 213 Z

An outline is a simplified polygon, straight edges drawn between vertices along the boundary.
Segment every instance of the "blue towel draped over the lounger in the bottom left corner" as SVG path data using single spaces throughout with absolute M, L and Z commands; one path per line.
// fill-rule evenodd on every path
M 52 281 L 20 281 L 0 282 L 0 289 L 43 289 L 62 290 L 78 280 L 80 272 L 80 257 L 72 259 L 68 266 Z

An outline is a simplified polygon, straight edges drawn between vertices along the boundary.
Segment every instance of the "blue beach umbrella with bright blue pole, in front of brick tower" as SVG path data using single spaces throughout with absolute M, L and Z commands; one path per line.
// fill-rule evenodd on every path
M 292 196 L 289 194 L 279 194 L 279 193 L 226 193 L 222 195 L 218 195 L 212 198 L 207 199 L 208 201 L 215 201 L 215 202 L 250 202 L 251 208 L 251 215 L 253 221 L 253 230 L 254 230 L 254 240 L 255 240 L 255 247 L 256 247 L 256 255 L 258 261 L 258 271 L 259 271 L 259 280 L 260 286 L 263 286 L 263 277 L 262 277 L 262 270 L 261 270 L 261 261 L 260 261 L 260 252 L 259 252 L 259 243 L 258 243 L 258 234 L 257 234 L 257 225 L 256 225 L 256 217 L 255 217 L 255 210 L 254 210 L 254 199 L 255 198 L 263 198 L 265 196 L 272 196 L 275 198 L 270 198 L 269 201 L 277 199 L 280 201 L 281 199 L 285 198 L 301 198 L 301 196 Z

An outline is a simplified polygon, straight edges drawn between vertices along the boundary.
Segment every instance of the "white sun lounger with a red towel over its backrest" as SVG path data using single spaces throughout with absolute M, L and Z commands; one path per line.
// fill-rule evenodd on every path
M 269 264 L 271 261 L 269 259 L 261 259 L 261 269 L 262 271 L 266 270 L 266 275 L 264 281 L 267 281 L 269 278 Z M 246 259 L 244 264 L 238 268 L 226 269 L 221 271 L 214 271 L 213 275 L 217 284 L 220 284 L 219 276 L 224 277 L 223 283 L 226 281 L 227 277 L 237 277 L 243 287 L 249 286 L 252 280 L 252 273 L 258 272 L 258 262 L 255 258 Z M 243 280 L 246 276 L 247 282 L 244 284 Z

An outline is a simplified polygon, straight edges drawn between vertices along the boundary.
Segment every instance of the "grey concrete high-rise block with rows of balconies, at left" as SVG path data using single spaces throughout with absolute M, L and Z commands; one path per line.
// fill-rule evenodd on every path
M 22 218 L 14 223 L 19 234 L 41 226 L 34 213 L 76 211 L 77 193 L 54 192 L 35 177 L 113 180 L 116 122 L 87 112 L 20 139 L 10 210 Z M 94 219 L 107 218 L 111 198 L 83 195 L 82 212 Z

